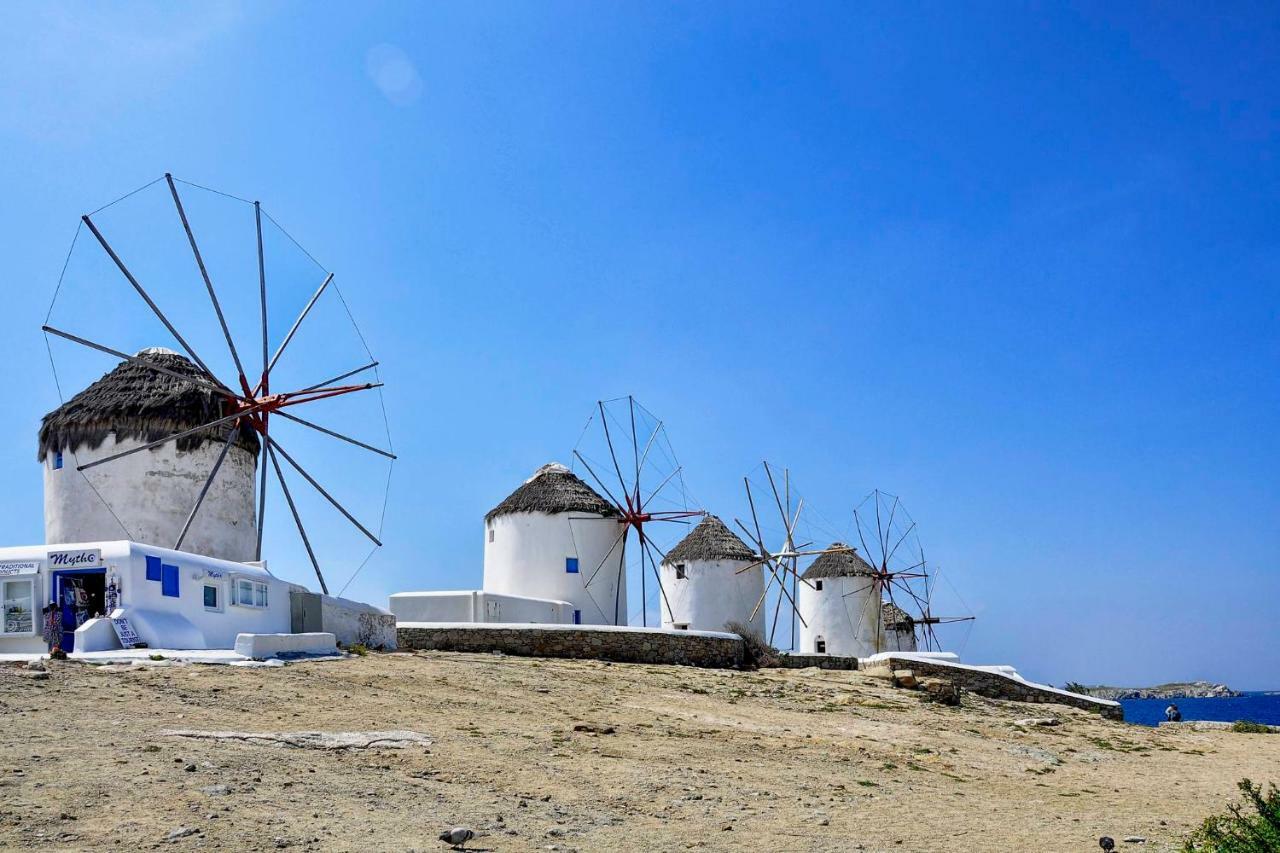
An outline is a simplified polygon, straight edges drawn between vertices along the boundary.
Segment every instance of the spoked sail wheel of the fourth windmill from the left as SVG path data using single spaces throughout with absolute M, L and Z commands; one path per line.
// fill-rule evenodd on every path
M 973 621 L 973 616 L 937 616 L 932 612 L 938 573 L 931 574 L 915 520 L 901 498 L 872 491 L 854 510 L 863 553 L 874 569 L 874 583 L 890 605 L 906 611 L 922 629 L 925 648 L 941 651 L 938 625 Z M 906 607 L 902 607 L 906 605 Z M 882 610 L 876 611 L 876 637 L 883 638 Z M 878 640 L 879 642 L 879 640 Z M 883 651 L 877 647 L 876 651 Z

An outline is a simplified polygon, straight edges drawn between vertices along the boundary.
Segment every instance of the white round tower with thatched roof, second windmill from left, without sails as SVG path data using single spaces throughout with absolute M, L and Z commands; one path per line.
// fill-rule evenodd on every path
M 485 515 L 484 592 L 570 602 L 573 624 L 626 625 L 617 508 L 550 462 Z

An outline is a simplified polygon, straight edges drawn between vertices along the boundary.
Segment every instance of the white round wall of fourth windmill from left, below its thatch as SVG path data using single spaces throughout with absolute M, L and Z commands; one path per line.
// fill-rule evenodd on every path
M 827 654 L 867 657 L 883 651 L 881 642 L 881 589 L 874 578 L 815 578 L 801 583 L 797 596 L 800 617 L 799 652 L 818 653 L 818 640 Z

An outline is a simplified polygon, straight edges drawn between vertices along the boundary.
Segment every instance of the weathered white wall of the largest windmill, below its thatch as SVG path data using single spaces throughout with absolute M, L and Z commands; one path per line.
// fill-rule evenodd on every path
M 60 469 L 54 467 L 55 455 L 49 453 L 44 464 L 46 543 L 132 539 L 161 548 L 174 546 L 221 443 L 205 442 L 196 450 L 178 451 L 170 442 L 86 471 L 76 470 L 141 443 L 116 442 L 111 435 L 96 450 L 64 450 Z M 256 470 L 253 455 L 232 447 L 183 540 L 184 552 L 236 562 L 255 558 Z

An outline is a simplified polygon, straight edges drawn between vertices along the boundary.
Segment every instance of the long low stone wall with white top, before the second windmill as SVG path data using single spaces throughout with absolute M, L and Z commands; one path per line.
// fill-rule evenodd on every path
M 673 631 L 613 625 L 399 622 L 402 651 L 502 652 L 621 663 L 680 663 L 737 669 L 742 638 L 719 631 Z

